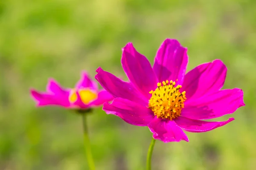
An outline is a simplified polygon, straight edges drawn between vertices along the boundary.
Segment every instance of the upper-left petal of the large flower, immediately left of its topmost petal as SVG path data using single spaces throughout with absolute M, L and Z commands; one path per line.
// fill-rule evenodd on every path
M 148 59 L 138 53 L 131 42 L 125 45 L 122 51 L 121 62 L 127 77 L 134 87 L 149 99 L 149 91 L 157 88 L 157 77 Z

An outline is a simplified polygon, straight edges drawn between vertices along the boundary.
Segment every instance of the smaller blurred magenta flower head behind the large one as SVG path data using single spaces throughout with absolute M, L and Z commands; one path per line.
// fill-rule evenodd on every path
M 37 106 L 57 105 L 81 110 L 102 105 L 113 99 L 113 96 L 104 89 L 99 90 L 97 83 L 84 71 L 75 88 L 62 88 L 54 79 L 49 79 L 46 90 L 43 93 L 31 90 Z

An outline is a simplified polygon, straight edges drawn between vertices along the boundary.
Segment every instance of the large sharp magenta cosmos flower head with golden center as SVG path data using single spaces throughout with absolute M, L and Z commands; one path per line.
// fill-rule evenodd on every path
M 186 73 L 187 49 L 177 40 L 166 39 L 157 51 L 153 68 L 132 43 L 122 49 L 122 67 L 130 82 L 124 82 L 102 68 L 95 78 L 115 99 L 103 104 L 131 125 L 148 126 L 154 139 L 163 142 L 189 141 L 183 130 L 206 132 L 226 125 L 205 122 L 233 113 L 244 106 L 243 91 L 220 90 L 227 67 L 221 60 L 204 63 Z

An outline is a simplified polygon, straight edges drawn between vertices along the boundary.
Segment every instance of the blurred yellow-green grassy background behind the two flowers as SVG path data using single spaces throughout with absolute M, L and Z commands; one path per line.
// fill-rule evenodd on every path
M 156 142 L 153 170 L 256 169 L 255 0 L 0 0 L 0 170 L 84 170 L 81 117 L 35 108 L 29 88 L 73 87 L 101 66 L 125 77 L 127 42 L 151 63 L 167 37 L 188 47 L 188 70 L 221 59 L 224 88 L 244 90 L 236 120 L 190 142 Z M 125 78 L 126 79 L 126 78 Z M 89 116 L 97 170 L 144 170 L 152 133 L 101 108 Z

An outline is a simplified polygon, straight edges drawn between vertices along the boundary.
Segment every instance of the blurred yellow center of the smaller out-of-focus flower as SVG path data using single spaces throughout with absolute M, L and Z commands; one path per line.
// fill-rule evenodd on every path
M 76 92 L 78 91 L 79 96 L 81 98 L 81 101 L 87 105 L 88 103 L 90 103 L 91 101 L 93 101 L 94 99 L 97 99 L 98 95 L 91 91 L 90 89 L 84 88 L 84 89 L 73 89 L 70 91 L 70 96 L 69 96 L 69 101 L 71 103 L 76 102 L 76 100 L 78 99 L 78 96 L 76 94 Z

